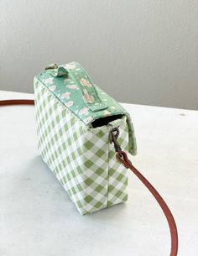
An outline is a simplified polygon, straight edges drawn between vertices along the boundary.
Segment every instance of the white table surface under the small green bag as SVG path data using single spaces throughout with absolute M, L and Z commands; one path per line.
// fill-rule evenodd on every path
M 33 95 L 0 91 L 0 99 L 18 97 Z M 198 255 L 198 112 L 122 106 L 138 141 L 130 159 L 175 215 L 178 255 Z M 34 107 L 0 107 L 0 256 L 99 255 L 169 255 L 153 197 L 130 173 L 128 202 L 82 217 L 38 154 Z

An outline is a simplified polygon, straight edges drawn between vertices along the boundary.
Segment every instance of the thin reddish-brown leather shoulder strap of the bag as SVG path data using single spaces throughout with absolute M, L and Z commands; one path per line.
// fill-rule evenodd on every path
M 25 104 L 25 105 L 34 105 L 34 100 L 26 100 L 26 99 L 14 99 L 14 100 L 3 100 L 0 101 L 0 106 L 7 106 L 7 105 L 18 105 L 18 104 Z M 156 201 L 158 201 L 159 206 L 161 207 L 164 215 L 169 223 L 169 231 L 171 235 L 171 251 L 170 256 L 176 256 L 178 252 L 178 233 L 177 227 L 175 224 L 175 219 L 172 213 L 169 210 L 169 206 L 165 203 L 162 196 L 159 195 L 159 192 L 156 191 L 153 185 L 132 165 L 131 161 L 128 159 L 127 154 L 124 151 L 119 151 L 116 154 L 117 160 L 122 163 L 126 168 L 129 168 L 133 171 L 135 175 L 138 176 L 138 179 L 143 182 L 148 190 L 152 193 Z

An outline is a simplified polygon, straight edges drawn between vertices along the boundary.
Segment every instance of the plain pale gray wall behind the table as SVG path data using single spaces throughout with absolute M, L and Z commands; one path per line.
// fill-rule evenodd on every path
M 0 1 L 0 89 L 77 60 L 119 102 L 198 109 L 197 0 Z

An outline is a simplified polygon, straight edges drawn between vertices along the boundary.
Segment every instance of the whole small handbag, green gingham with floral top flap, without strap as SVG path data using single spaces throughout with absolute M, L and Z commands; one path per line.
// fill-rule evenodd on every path
M 91 81 L 77 62 L 50 65 L 34 77 L 38 148 L 44 162 L 84 215 L 128 199 L 128 175 L 117 142 L 136 154 L 128 112 Z

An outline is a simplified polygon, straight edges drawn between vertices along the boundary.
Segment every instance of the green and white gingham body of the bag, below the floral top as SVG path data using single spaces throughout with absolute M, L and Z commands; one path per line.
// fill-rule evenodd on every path
M 118 143 L 128 150 L 126 117 L 90 128 L 36 78 L 34 95 L 39 153 L 78 211 L 84 215 L 127 201 L 127 170 L 109 142 L 119 125 Z

